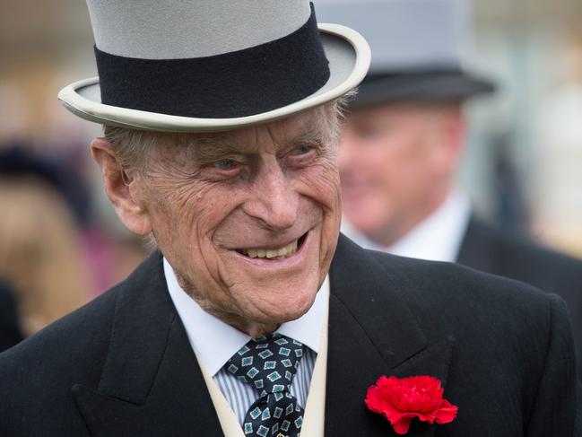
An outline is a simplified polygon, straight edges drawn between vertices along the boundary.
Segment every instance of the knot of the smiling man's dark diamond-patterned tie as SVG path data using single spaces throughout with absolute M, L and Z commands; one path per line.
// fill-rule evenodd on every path
M 303 345 L 281 334 L 252 338 L 226 363 L 239 380 L 260 396 L 288 391 L 303 356 Z

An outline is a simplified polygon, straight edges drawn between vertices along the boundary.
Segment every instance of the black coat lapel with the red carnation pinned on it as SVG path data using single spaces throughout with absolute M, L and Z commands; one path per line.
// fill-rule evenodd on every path
M 343 236 L 330 282 L 326 435 L 396 435 L 364 405 L 368 387 L 381 375 L 430 375 L 446 384 L 454 340 L 430 344 L 400 294 L 403 281 Z M 413 423 L 407 435 L 430 437 L 435 429 Z

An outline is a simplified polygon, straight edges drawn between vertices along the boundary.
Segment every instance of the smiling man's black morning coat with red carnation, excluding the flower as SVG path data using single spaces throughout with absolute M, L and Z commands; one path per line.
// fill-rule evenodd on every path
M 0 435 L 222 436 L 161 259 L 0 354 Z M 458 406 L 408 436 L 581 435 L 559 297 L 343 236 L 329 275 L 326 436 L 396 435 L 364 405 L 381 375 L 439 378 Z

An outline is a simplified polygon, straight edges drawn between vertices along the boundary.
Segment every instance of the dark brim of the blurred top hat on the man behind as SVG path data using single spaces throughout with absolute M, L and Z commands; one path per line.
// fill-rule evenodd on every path
M 495 85 L 464 71 L 369 74 L 351 108 L 391 101 L 465 101 L 495 91 Z

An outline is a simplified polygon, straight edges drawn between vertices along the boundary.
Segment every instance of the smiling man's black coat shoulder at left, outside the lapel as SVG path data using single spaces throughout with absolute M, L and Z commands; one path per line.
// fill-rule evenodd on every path
M 0 354 L 0 435 L 85 435 L 81 416 L 71 414 L 71 389 L 99 384 L 118 293 L 119 286 Z

